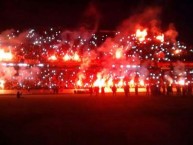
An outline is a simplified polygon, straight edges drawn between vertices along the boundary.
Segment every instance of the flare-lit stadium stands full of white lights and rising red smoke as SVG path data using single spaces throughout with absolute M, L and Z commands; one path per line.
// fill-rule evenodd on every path
M 176 40 L 173 24 L 162 31 L 147 9 L 125 20 L 116 32 L 50 28 L 0 34 L 1 89 L 59 89 L 113 85 L 189 85 L 193 50 Z M 152 22 L 154 21 L 153 25 Z

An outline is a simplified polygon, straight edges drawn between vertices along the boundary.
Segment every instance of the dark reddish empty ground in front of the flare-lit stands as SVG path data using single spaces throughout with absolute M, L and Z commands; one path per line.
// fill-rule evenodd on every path
M 1 145 L 192 145 L 193 97 L 0 96 Z

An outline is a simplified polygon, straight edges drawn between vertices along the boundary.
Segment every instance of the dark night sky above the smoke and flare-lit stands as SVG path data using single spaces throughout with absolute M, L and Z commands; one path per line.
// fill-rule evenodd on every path
M 179 38 L 193 44 L 190 0 L 1 0 L 0 30 L 52 26 L 70 29 L 92 24 L 96 19 L 99 29 L 115 29 L 124 19 L 149 6 L 162 8 L 162 27 L 174 23 Z

